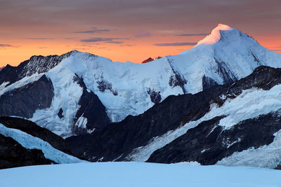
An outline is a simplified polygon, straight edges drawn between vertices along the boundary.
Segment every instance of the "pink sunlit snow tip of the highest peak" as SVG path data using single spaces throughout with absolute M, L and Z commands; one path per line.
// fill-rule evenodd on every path
M 218 24 L 212 31 L 211 34 L 206 36 L 204 39 L 199 41 L 197 45 L 200 44 L 214 44 L 216 43 L 219 39 L 221 39 L 221 31 L 228 31 L 228 30 L 233 30 L 233 28 L 229 27 L 228 25 L 223 25 L 223 24 Z

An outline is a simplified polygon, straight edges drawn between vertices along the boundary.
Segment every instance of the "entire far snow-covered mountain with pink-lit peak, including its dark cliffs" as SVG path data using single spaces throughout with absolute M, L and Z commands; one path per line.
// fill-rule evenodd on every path
M 62 137 L 100 132 L 169 95 L 232 83 L 261 65 L 281 67 L 281 55 L 227 25 L 190 50 L 145 64 L 78 51 L 34 56 L 0 71 L 0 115 L 28 118 Z

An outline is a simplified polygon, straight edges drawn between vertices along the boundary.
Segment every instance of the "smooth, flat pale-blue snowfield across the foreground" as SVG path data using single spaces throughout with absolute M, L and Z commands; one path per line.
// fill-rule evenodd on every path
M 30 178 L 32 176 L 32 178 Z M 0 170 L 1 186 L 281 186 L 281 171 L 251 167 L 98 162 Z

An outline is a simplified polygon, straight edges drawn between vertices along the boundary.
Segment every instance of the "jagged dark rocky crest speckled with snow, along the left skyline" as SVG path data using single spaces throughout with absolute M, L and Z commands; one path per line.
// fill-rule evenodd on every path
M 11 85 L 25 76 L 32 76 L 35 73 L 44 73 L 74 53 L 77 53 L 77 51 L 73 50 L 60 56 L 32 56 L 30 60 L 20 63 L 18 67 L 7 65 L 0 71 L 0 85 L 4 82 L 9 82 L 8 85 Z

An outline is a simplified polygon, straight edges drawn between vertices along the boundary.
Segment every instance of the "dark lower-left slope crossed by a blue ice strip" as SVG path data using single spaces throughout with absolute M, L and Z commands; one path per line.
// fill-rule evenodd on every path
M 65 140 L 31 121 L 0 117 L 0 168 L 83 162 Z

